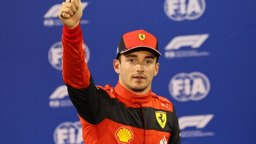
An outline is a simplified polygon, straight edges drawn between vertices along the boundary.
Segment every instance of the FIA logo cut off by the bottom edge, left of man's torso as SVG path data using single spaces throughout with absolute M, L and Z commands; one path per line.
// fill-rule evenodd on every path
M 55 144 L 83 144 L 80 121 L 60 124 L 55 129 L 53 138 Z

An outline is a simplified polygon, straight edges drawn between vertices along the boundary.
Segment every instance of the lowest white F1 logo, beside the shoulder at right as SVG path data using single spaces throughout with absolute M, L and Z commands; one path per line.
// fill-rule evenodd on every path
M 178 118 L 180 130 L 187 127 L 196 127 L 196 129 L 205 128 L 209 121 L 213 118 L 213 114 L 209 115 L 191 115 Z

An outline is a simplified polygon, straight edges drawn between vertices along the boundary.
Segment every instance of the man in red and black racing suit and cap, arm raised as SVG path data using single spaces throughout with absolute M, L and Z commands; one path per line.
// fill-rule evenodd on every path
M 62 4 L 63 78 L 75 105 L 85 144 L 180 144 L 176 111 L 151 91 L 160 53 L 155 36 L 136 30 L 122 36 L 113 67 L 115 87 L 95 86 L 80 30 L 80 0 Z

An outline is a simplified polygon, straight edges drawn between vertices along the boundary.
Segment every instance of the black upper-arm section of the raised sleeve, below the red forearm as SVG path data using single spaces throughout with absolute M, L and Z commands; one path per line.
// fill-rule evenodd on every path
M 78 114 L 88 123 L 99 124 L 109 115 L 113 105 L 112 99 L 105 90 L 95 86 L 92 75 L 90 85 L 86 88 L 66 86 Z

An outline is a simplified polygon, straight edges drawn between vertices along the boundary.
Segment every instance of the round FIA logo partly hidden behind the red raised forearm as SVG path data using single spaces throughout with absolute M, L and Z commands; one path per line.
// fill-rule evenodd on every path
M 86 62 L 88 63 L 90 59 L 90 50 L 86 44 L 81 45 L 82 48 L 85 50 L 85 57 L 86 57 Z M 57 42 L 54 43 L 48 52 L 48 60 L 51 64 L 51 66 L 57 70 L 62 71 L 62 42 Z

